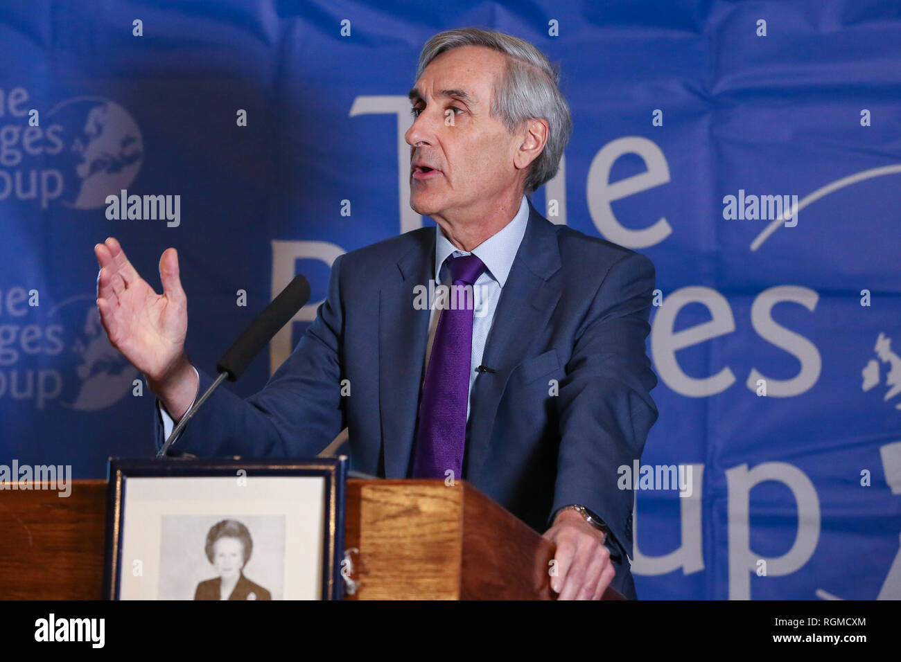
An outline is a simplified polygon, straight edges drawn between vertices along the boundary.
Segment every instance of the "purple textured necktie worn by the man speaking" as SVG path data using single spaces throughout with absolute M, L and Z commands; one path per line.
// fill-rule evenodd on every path
M 445 264 L 451 268 L 453 286 L 441 310 L 425 369 L 412 477 L 444 478 L 444 472 L 451 469 L 453 479 L 460 480 L 466 446 L 475 293 L 464 295 L 458 287 L 474 286 L 485 265 L 475 255 L 447 258 Z

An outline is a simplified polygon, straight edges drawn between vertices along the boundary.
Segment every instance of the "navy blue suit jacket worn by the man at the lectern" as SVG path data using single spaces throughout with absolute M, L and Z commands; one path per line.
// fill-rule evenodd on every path
M 434 252 L 430 227 L 336 259 L 316 319 L 268 384 L 247 399 L 218 389 L 177 449 L 311 457 L 348 427 L 350 468 L 406 477 L 430 313 L 414 308 L 414 286 L 434 277 Z M 653 289 L 650 259 L 554 225 L 530 202 L 482 360 L 495 372 L 470 394 L 462 476 L 540 532 L 580 503 L 629 557 L 633 492 L 617 488 L 617 468 L 641 457 L 657 420 Z M 200 393 L 211 383 L 200 372 Z M 161 437 L 158 416 L 158 447 Z M 631 582 L 625 561 L 614 586 L 633 594 Z

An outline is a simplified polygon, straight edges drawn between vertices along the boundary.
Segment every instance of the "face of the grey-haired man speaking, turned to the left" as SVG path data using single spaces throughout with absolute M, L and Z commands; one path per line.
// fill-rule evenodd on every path
M 519 186 L 515 147 L 499 119 L 490 116 L 504 56 L 481 46 L 461 46 L 433 59 L 411 90 L 410 206 L 427 216 L 478 209 Z M 432 171 L 414 167 L 418 162 Z

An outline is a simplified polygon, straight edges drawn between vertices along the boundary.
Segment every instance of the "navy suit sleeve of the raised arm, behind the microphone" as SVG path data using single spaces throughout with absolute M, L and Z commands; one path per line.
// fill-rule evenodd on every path
M 345 427 L 341 398 L 341 258 L 332 265 L 329 292 L 291 356 L 249 398 L 223 385 L 187 424 L 172 455 L 301 458 L 324 449 Z M 198 370 L 204 393 L 213 377 Z M 163 422 L 156 412 L 157 449 Z

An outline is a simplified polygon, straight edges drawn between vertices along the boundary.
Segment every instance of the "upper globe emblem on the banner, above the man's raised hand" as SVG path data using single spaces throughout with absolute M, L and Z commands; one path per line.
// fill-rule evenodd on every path
M 78 96 L 55 105 L 50 121 L 62 128 L 57 159 L 64 186 L 60 200 L 75 209 L 105 206 L 107 195 L 128 188 L 138 175 L 144 142 L 138 124 L 121 105 Z

